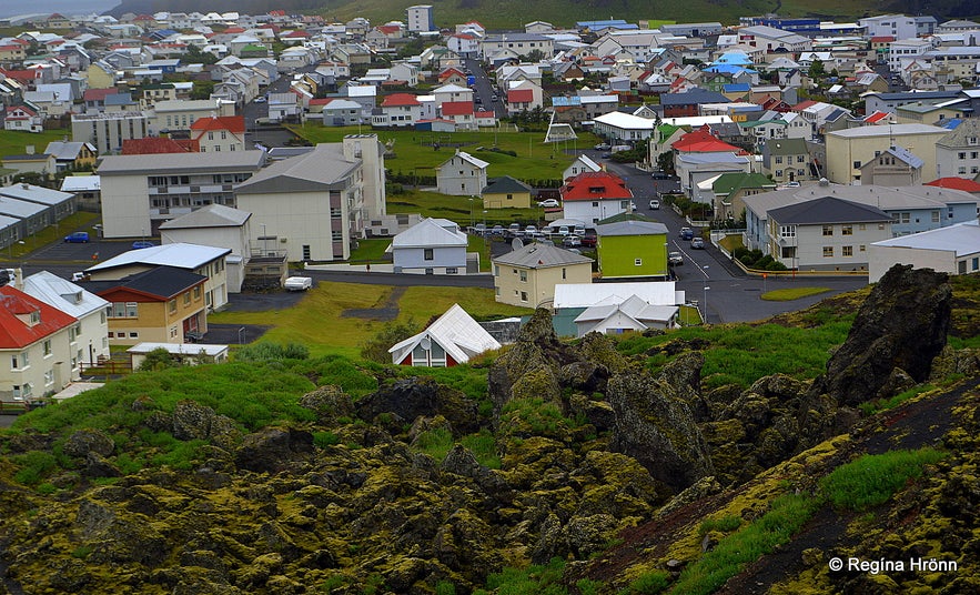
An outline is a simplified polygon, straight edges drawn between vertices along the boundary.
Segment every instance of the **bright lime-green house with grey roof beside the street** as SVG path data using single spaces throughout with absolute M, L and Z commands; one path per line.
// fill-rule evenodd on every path
M 667 226 L 641 215 L 620 214 L 596 224 L 603 279 L 667 278 Z

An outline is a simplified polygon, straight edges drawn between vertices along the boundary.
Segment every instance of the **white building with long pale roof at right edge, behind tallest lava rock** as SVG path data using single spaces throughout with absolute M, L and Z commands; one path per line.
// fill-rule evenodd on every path
M 868 281 L 877 283 L 896 264 L 932 269 L 952 275 L 980 272 L 980 225 L 977 220 L 911 235 L 872 242 Z

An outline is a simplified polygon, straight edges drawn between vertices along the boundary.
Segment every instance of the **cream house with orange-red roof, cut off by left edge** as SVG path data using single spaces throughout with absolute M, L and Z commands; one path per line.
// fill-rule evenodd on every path
M 64 389 L 72 380 L 77 326 L 74 316 L 14 286 L 0 288 L 0 401 L 27 405 Z

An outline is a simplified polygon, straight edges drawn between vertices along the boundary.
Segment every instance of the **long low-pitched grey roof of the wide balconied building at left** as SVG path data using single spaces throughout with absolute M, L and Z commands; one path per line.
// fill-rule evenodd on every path
M 265 151 L 220 153 L 158 153 L 110 155 L 99 164 L 99 175 L 152 175 L 154 173 L 220 173 L 256 171 L 265 163 Z

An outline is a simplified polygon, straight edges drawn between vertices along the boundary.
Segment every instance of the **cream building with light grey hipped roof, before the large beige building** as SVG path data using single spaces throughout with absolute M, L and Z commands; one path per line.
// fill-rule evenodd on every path
M 230 252 L 224 256 L 225 286 L 228 293 L 240 293 L 252 264 L 250 259 L 261 258 L 269 252 L 267 250 L 260 252 L 259 246 L 253 251 L 251 218 L 252 213 L 247 211 L 223 204 L 209 204 L 161 223 L 160 243 L 161 245 L 196 244 L 229 250 Z M 216 264 L 214 269 L 218 269 Z M 280 283 L 285 281 L 285 266 L 282 268 L 280 278 Z

